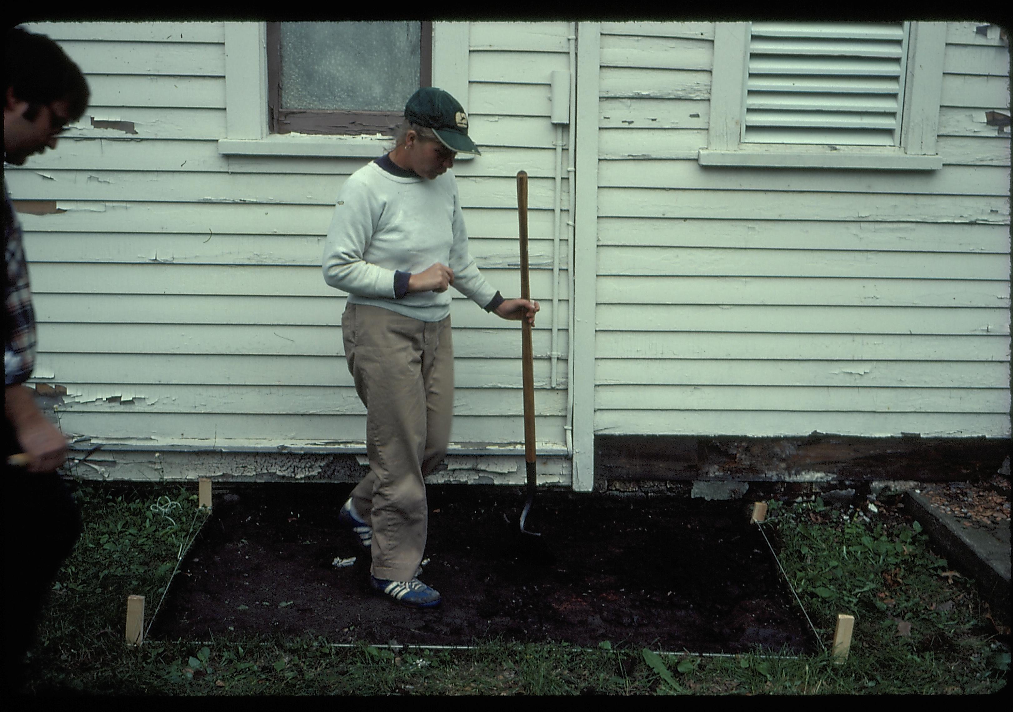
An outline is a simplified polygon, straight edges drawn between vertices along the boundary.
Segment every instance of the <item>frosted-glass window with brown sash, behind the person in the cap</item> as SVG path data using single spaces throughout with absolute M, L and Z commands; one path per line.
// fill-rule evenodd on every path
M 269 22 L 271 134 L 393 136 L 432 80 L 432 22 Z

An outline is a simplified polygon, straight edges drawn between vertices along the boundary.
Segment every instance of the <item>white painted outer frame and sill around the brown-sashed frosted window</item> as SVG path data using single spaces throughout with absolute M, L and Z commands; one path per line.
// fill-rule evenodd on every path
M 433 23 L 433 86 L 468 109 L 468 22 Z M 390 137 L 271 134 L 267 115 L 267 25 L 225 23 L 225 156 L 375 158 L 393 148 Z M 455 160 L 472 158 L 461 154 Z

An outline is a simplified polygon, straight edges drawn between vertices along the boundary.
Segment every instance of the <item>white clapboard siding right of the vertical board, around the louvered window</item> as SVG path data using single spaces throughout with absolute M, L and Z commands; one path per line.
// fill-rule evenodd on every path
M 692 40 L 713 32 L 601 25 L 596 432 L 1009 437 L 1009 134 L 986 117 L 1008 113 L 1009 57 L 977 27 L 947 29 L 943 168 L 901 174 L 701 168 L 709 51 Z M 795 62 L 804 84 L 865 62 L 828 62 L 855 26 L 839 29 L 764 41 L 831 53 Z M 867 29 L 898 35 L 869 62 L 893 63 L 900 95 L 903 37 Z M 812 111 L 794 96 L 753 108 Z

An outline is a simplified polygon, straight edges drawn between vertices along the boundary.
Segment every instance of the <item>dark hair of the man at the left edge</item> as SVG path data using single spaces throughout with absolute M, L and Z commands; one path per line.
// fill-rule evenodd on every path
M 63 100 L 69 104 L 68 118 L 76 121 L 88 106 L 90 92 L 81 68 L 45 34 L 22 27 L 8 29 L 3 74 L 4 94 L 12 88 L 14 96 L 32 105 L 32 113 L 38 106 Z

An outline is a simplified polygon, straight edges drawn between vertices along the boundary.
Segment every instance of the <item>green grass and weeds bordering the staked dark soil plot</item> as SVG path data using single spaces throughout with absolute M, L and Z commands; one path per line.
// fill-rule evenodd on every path
M 658 654 L 607 640 L 590 650 L 502 640 L 394 650 L 236 636 L 131 648 L 126 598 L 146 596 L 150 621 L 206 516 L 196 485 L 75 490 L 85 533 L 40 628 L 32 695 L 981 694 L 1006 685 L 1009 651 L 971 582 L 932 553 L 917 525 L 870 522 L 819 500 L 771 502 L 765 531 L 828 645 L 836 614 L 855 615 L 841 664 L 826 652 Z

